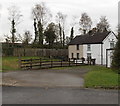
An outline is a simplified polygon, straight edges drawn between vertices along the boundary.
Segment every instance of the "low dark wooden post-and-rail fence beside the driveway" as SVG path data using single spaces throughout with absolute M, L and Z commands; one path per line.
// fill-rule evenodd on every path
M 67 66 L 79 66 L 84 63 L 80 63 L 76 61 L 68 61 L 63 60 L 54 60 L 54 59 L 26 59 L 20 60 L 20 68 L 21 69 L 41 69 L 41 68 L 53 68 L 53 67 L 67 67 Z

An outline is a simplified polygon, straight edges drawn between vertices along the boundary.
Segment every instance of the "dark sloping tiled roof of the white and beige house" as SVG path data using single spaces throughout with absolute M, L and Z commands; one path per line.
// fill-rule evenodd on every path
M 79 35 L 76 36 L 69 45 L 82 45 L 82 44 L 101 44 L 102 41 L 109 35 L 110 32 L 97 32 L 93 35 Z

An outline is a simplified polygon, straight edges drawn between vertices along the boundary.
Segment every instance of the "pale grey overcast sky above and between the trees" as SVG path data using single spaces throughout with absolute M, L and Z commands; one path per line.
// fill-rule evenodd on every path
M 72 16 L 77 16 L 79 22 L 81 13 L 86 12 L 93 21 L 93 26 L 99 22 L 100 16 L 106 16 L 111 29 L 116 31 L 118 25 L 118 1 L 119 0 L 0 0 L 0 41 L 3 35 L 10 35 L 10 22 L 8 20 L 8 7 L 15 5 L 19 7 L 23 17 L 22 22 L 17 26 L 17 31 L 23 34 L 30 30 L 34 34 L 31 10 L 37 3 L 45 2 L 51 10 L 53 17 L 57 12 L 67 14 L 66 35 L 70 32 Z M 79 34 L 79 26 L 75 27 L 75 34 Z

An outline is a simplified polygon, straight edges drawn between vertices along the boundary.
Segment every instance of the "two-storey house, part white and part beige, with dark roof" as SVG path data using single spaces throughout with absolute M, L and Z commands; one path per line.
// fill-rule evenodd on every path
M 111 65 L 111 56 L 117 38 L 112 31 L 88 33 L 76 36 L 68 47 L 69 58 L 96 59 L 96 64 Z

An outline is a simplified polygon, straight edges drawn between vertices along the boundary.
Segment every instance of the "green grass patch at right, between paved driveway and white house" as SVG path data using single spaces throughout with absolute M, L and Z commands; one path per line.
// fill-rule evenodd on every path
M 91 71 L 85 75 L 85 87 L 117 88 L 120 75 L 102 66 L 88 66 Z

